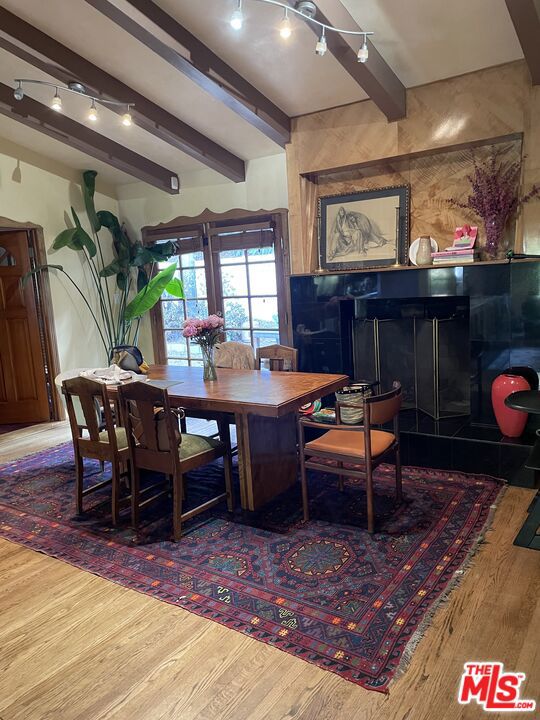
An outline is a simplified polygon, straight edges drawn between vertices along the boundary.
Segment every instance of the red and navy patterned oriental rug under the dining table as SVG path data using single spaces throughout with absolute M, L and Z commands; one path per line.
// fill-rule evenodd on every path
M 89 483 L 103 479 L 98 463 L 85 466 Z M 167 497 L 145 510 L 138 536 L 127 509 L 110 526 L 109 489 L 75 517 L 73 454 L 61 445 L 0 467 L 0 535 L 386 692 L 461 577 L 503 483 L 405 468 L 396 507 L 393 468 L 375 478 L 371 536 L 363 482 L 339 492 L 335 476 L 314 473 L 309 523 L 294 487 L 258 514 L 213 508 L 175 544 Z M 219 464 L 188 475 L 187 506 L 222 482 Z

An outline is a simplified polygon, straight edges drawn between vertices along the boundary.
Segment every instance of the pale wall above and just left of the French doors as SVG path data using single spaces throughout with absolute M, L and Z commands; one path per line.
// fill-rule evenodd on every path
M 139 237 L 141 228 L 169 222 L 176 217 L 196 217 L 208 209 L 216 213 L 242 210 L 277 210 L 288 207 L 285 153 L 247 163 L 243 183 L 216 181 L 211 171 L 180 178 L 178 195 L 133 183 L 118 188 L 120 216 L 126 227 Z M 154 359 L 149 316 L 141 324 L 139 346 L 145 359 Z

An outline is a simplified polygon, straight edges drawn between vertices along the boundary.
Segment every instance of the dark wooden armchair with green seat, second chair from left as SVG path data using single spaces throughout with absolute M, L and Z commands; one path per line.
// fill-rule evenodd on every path
M 139 527 L 140 511 L 160 497 L 142 499 L 141 470 L 163 473 L 172 484 L 173 538 L 180 540 L 182 524 L 199 513 L 209 510 L 223 500 L 230 512 L 234 509 L 232 462 L 229 426 L 218 419 L 220 439 L 181 433 L 178 419 L 171 409 L 167 390 L 150 383 L 130 383 L 118 388 L 132 468 L 131 517 L 135 529 Z M 163 431 L 164 426 L 164 431 Z M 161 432 L 160 432 L 161 430 Z M 191 470 L 223 458 L 225 492 L 183 512 L 185 475 Z M 154 486 L 152 486 L 154 487 Z

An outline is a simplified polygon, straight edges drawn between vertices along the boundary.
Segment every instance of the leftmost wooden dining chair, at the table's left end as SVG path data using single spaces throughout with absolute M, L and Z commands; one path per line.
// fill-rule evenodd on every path
M 112 487 L 112 522 L 120 520 L 120 483 L 129 475 L 129 450 L 126 431 L 115 424 L 111 401 L 104 383 L 84 377 L 75 377 L 62 382 L 75 454 L 75 505 L 77 515 L 83 513 L 83 498 Z M 100 407 L 100 413 L 96 412 Z M 86 430 L 88 437 L 83 435 Z M 84 488 L 84 458 L 111 463 L 111 477 Z

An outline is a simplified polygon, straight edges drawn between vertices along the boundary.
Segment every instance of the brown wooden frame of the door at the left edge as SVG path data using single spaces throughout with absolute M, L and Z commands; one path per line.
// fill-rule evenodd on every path
M 3 232 L 26 232 L 29 246 L 33 250 L 34 257 L 30 257 L 31 266 L 45 265 L 47 253 L 45 250 L 45 239 L 43 228 L 30 222 L 18 222 L 9 218 L 0 217 L 0 234 Z M 38 314 L 38 324 L 43 331 L 43 342 L 40 345 L 43 350 L 43 360 L 47 364 L 50 399 L 50 420 L 63 420 L 65 417 L 64 406 L 54 384 L 54 378 L 60 372 L 60 360 L 58 356 L 58 345 L 56 342 L 56 330 L 54 326 L 54 312 L 51 295 L 49 274 L 40 272 L 34 275 L 34 299 Z

